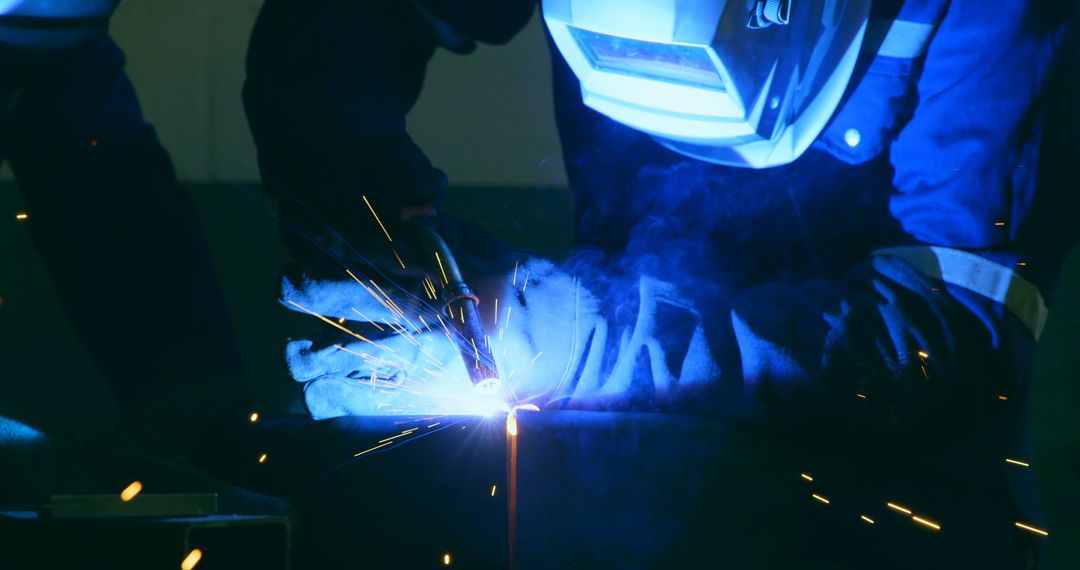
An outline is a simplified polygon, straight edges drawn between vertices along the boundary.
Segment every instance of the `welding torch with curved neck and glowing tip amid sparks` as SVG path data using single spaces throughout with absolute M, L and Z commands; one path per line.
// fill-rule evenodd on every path
M 496 394 L 501 381 L 484 334 L 480 298 L 473 295 L 465 283 L 454 254 L 435 230 L 433 220 L 428 216 L 416 216 L 406 218 L 405 221 L 421 250 L 433 253 L 430 269 L 442 275 L 444 285 L 440 296 L 442 313 L 457 332 L 455 340 L 465 369 L 469 370 L 473 389 L 484 394 Z

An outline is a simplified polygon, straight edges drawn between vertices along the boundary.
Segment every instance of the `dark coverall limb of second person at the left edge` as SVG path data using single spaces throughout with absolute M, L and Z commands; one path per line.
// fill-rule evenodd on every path
M 185 393 L 206 396 L 197 413 L 231 412 L 248 398 L 232 325 L 194 205 L 108 36 L 116 3 L 28 0 L 0 15 L 0 161 L 120 410 L 153 406 L 168 424 L 173 404 L 193 403 Z

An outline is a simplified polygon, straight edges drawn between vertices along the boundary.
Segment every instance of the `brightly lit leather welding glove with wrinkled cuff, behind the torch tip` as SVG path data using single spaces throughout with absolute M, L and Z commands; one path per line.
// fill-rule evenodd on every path
M 700 315 L 657 280 L 639 280 L 636 317 L 625 326 L 603 316 L 611 311 L 549 261 L 474 286 L 503 382 L 495 398 L 472 390 L 469 363 L 427 299 L 390 294 L 391 304 L 357 281 L 286 274 L 282 302 L 319 315 L 307 338 L 286 345 L 312 416 L 483 415 L 521 404 L 667 408 L 676 393 L 717 377 Z

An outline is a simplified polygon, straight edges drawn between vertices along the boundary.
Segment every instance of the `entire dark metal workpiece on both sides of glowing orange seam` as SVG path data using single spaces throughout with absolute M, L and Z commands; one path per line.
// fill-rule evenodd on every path
M 807 497 L 764 439 L 652 413 L 518 410 L 515 435 L 507 420 L 283 426 L 247 477 L 292 489 L 261 490 L 292 493 L 318 526 L 301 547 L 325 565 L 431 568 L 449 553 L 501 569 L 513 545 L 515 569 L 798 567 Z

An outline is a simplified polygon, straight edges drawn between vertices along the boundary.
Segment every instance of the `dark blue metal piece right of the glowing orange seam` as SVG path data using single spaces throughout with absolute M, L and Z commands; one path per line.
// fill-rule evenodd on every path
M 515 568 L 799 568 L 795 461 L 729 423 L 518 415 Z

